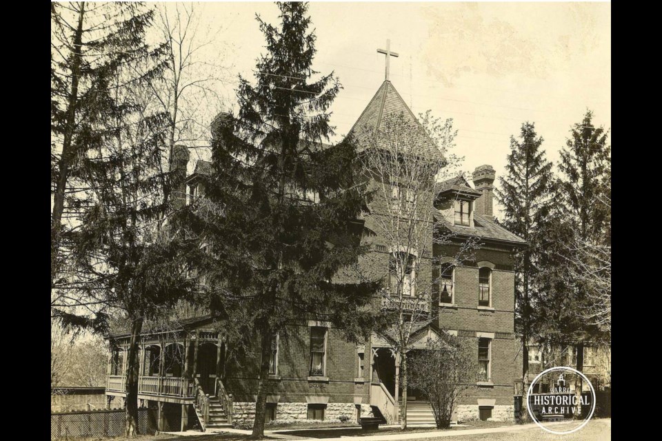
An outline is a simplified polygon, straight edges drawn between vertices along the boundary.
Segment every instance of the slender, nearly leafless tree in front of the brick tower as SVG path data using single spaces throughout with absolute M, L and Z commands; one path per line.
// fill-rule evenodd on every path
M 361 155 L 374 192 L 372 216 L 366 222 L 377 232 L 371 245 L 388 253 L 389 259 L 388 286 L 382 290 L 381 302 L 383 309 L 390 311 L 394 325 L 379 334 L 392 345 L 396 356 L 397 407 L 402 378 L 403 429 L 407 427 L 405 354 L 421 322 L 434 318 L 430 305 L 442 276 L 432 248 L 457 245 L 457 253 L 452 256 L 457 264 L 468 258 L 476 245 L 472 240 L 454 240 L 454 234 L 445 228 L 445 217 L 436 207 L 443 181 L 457 176 L 461 161 L 450 153 L 457 134 L 452 129 L 452 119 L 442 124 L 430 116 L 430 111 L 419 118 L 421 123 L 402 113 L 383 116 L 379 130 L 371 132 L 367 142 L 363 141 Z M 373 253 L 372 258 L 383 258 L 383 253 Z

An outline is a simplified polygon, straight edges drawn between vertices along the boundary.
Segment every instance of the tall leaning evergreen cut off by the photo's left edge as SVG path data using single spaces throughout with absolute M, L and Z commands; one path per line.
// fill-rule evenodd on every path
M 144 41 L 153 12 L 142 3 L 51 3 L 51 287 L 66 261 L 66 236 L 88 205 L 88 152 L 114 136 L 114 100 L 123 88 L 154 81 L 163 48 Z M 135 68 L 154 63 L 152 69 Z M 116 80 L 122 72 L 122 81 Z M 55 294 L 54 300 L 59 299 Z

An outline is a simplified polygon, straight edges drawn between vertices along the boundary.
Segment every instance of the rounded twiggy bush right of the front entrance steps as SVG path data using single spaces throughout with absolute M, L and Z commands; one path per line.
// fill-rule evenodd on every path
M 457 398 L 477 380 L 473 355 L 466 340 L 442 331 L 410 360 L 410 382 L 430 401 L 438 429 L 448 429 Z

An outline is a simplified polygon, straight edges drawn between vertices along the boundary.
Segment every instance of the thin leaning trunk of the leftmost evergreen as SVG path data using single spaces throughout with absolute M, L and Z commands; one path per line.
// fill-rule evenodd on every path
M 55 276 L 59 272 L 57 258 L 60 247 L 60 234 L 62 229 L 62 214 L 64 212 L 64 195 L 69 179 L 69 166 L 74 154 L 72 154 L 72 139 L 76 123 L 76 107 L 78 103 L 78 84 L 81 76 L 81 59 L 83 45 L 83 17 L 85 16 L 85 2 L 81 3 L 78 16 L 78 25 L 74 35 L 74 50 L 71 61 L 71 93 L 67 107 L 67 121 L 63 136 L 62 152 L 58 161 L 58 176 L 53 195 L 53 212 L 50 218 L 50 287 L 52 289 Z

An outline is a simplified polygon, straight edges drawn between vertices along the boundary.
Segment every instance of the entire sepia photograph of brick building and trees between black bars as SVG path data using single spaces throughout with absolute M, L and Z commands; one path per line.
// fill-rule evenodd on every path
M 51 440 L 611 440 L 611 3 L 52 1 Z

